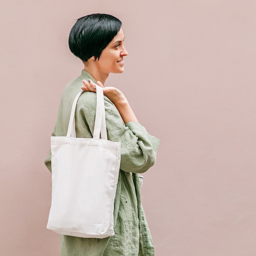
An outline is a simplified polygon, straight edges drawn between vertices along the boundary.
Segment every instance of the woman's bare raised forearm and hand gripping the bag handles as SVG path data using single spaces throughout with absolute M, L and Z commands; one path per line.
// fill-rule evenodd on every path
M 103 88 L 104 95 L 106 95 L 108 99 L 110 99 L 110 101 L 112 101 L 112 103 L 116 106 L 125 124 L 131 121 L 138 122 L 137 117 L 132 111 L 132 108 L 130 107 L 123 92 L 115 87 L 103 87 L 103 84 L 100 81 L 97 81 L 97 83 Z M 82 90 L 96 92 L 95 85 L 91 80 L 89 80 L 89 83 L 86 80 L 83 80 L 83 84 L 84 85 L 81 87 Z

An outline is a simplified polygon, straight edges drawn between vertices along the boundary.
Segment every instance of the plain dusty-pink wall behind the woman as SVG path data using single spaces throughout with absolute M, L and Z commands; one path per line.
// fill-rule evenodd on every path
M 256 2 L 1 0 L 0 255 L 58 255 L 43 164 L 64 86 L 80 74 L 73 20 L 124 23 L 111 75 L 161 139 L 142 199 L 157 256 L 255 256 Z

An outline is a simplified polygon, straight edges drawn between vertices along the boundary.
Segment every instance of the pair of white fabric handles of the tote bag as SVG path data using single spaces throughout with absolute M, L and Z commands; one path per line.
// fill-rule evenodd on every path
M 75 125 L 75 111 L 76 111 L 76 103 L 83 93 L 83 90 L 79 92 L 72 105 L 70 121 L 67 128 L 67 137 L 76 137 L 76 125 Z M 97 103 L 96 103 L 96 115 L 94 122 L 94 131 L 93 131 L 93 139 L 99 139 L 99 135 L 101 135 L 101 139 L 108 139 L 107 136 L 107 127 L 106 127 L 106 117 L 105 117 L 105 106 L 104 106 L 104 95 L 103 89 L 99 85 L 96 85 L 96 94 L 97 94 Z

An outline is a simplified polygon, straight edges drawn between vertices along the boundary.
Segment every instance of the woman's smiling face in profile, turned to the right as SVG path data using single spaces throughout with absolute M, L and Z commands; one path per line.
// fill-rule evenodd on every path
M 96 64 L 104 74 L 122 73 L 124 72 L 124 56 L 127 55 L 128 52 L 124 48 L 124 32 L 120 29 L 108 46 L 103 49 Z

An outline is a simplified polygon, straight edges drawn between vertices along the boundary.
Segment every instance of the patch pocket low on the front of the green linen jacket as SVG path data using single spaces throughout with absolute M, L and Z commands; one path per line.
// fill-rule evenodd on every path
M 139 254 L 139 219 L 125 220 L 126 256 Z

